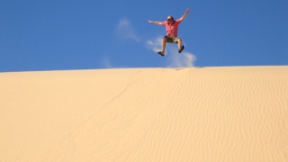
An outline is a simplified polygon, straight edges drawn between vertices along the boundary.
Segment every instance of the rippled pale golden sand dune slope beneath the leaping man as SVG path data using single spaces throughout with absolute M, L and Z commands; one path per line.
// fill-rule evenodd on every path
M 288 66 L 0 73 L 0 161 L 288 161 Z

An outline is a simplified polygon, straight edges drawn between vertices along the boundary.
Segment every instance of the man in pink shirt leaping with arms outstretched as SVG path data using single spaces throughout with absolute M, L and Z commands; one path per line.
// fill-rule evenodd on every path
M 148 23 L 155 23 L 157 25 L 163 25 L 166 27 L 166 36 L 162 41 L 162 50 L 157 51 L 157 53 L 161 56 L 165 56 L 165 48 L 167 43 L 178 43 L 178 52 L 181 53 L 184 49 L 184 45 L 182 45 L 181 38 L 178 37 L 178 25 L 181 23 L 184 18 L 189 13 L 189 8 L 186 10 L 185 14 L 178 20 L 174 20 L 173 16 L 168 16 L 166 22 L 152 22 L 148 20 Z

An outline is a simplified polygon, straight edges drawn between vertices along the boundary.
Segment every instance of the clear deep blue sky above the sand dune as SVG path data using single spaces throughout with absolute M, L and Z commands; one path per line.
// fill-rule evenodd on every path
M 165 27 L 148 20 L 187 8 L 184 53 L 160 57 Z M 0 72 L 188 66 L 185 54 L 195 67 L 288 65 L 288 1 L 0 1 Z

